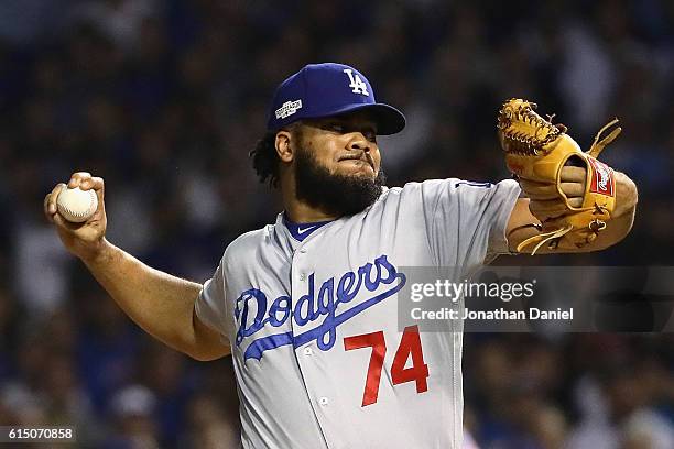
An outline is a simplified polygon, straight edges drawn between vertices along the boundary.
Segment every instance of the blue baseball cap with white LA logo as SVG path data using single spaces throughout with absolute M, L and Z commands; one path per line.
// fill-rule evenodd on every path
M 309 64 L 276 88 L 267 129 L 278 131 L 302 119 L 361 110 L 372 118 L 378 134 L 395 134 L 405 128 L 405 116 L 377 102 L 370 81 L 360 72 L 344 64 Z

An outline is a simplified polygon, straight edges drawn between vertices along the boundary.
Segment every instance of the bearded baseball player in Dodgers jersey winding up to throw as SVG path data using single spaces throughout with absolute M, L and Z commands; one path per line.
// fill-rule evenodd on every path
M 458 449 L 461 329 L 399 326 L 402 267 L 453 266 L 463 280 L 540 233 L 528 226 L 540 222 L 531 210 L 548 210 L 558 198 L 523 178 L 387 188 L 377 136 L 404 125 L 354 67 L 307 65 L 284 80 L 251 152 L 284 210 L 231 242 L 203 285 L 155 271 L 106 240 L 99 177 L 75 173 L 67 184 L 98 194 L 99 209 L 84 226 L 56 212 L 63 184 L 45 198 L 45 213 L 145 331 L 197 360 L 232 353 L 243 448 Z M 561 173 L 568 201 L 583 200 L 586 168 Z M 598 238 L 540 252 L 593 251 L 622 239 L 637 190 L 617 172 L 615 187 L 616 207 Z

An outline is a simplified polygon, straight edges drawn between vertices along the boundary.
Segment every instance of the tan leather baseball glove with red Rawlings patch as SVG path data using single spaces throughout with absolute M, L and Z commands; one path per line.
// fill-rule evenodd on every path
M 601 134 L 618 120 L 605 125 L 586 153 L 566 134 L 565 125 L 553 124 L 553 116 L 543 119 L 535 109 L 535 103 L 513 98 L 503 105 L 498 118 L 499 141 L 510 172 L 520 180 L 525 193 L 524 185 L 535 185 L 552 198 L 547 201 L 532 199 L 530 210 L 541 223 L 525 225 L 513 231 L 535 227 L 540 233 L 522 241 L 517 250 L 523 252 L 533 245 L 531 254 L 535 254 L 544 244 L 556 250 L 561 243 L 564 243 L 562 248 L 581 248 L 593 242 L 606 228 L 616 206 L 615 173 L 597 156 L 621 129 L 615 128 L 600 140 Z M 573 201 L 562 188 L 562 168 L 565 166 L 585 171 L 579 172 L 581 178 L 585 176 L 584 191 L 579 191 L 579 197 Z

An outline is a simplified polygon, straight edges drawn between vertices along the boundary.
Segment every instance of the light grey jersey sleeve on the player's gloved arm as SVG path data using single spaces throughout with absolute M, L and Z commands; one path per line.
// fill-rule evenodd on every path
M 424 221 L 435 263 L 471 270 L 508 253 L 506 227 L 519 195 L 520 186 L 513 179 L 422 183 Z

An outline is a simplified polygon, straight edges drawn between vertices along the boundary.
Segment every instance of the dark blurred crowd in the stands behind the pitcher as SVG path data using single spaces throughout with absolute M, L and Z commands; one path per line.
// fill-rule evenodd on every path
M 142 333 L 42 216 L 75 171 L 106 180 L 109 239 L 203 282 L 279 198 L 248 152 L 268 100 L 312 62 L 363 72 L 406 130 L 389 185 L 508 176 L 503 100 L 535 100 L 638 184 L 632 233 L 600 254 L 508 263 L 667 265 L 674 250 L 674 2 L 3 0 L 0 424 L 72 425 L 79 447 L 233 447 L 229 359 Z M 674 448 L 672 333 L 467 335 L 466 426 L 483 448 Z M 140 446 L 139 446 L 140 447 Z

